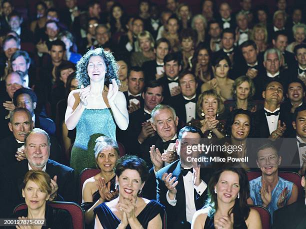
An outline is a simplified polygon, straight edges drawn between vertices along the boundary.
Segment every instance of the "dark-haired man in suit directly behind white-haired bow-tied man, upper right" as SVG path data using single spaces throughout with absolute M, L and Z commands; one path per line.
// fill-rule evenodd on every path
M 289 66 L 291 68 L 292 66 L 296 65 L 294 54 L 285 50 L 288 45 L 288 36 L 286 33 L 283 31 L 275 32 L 272 39 L 272 44 L 273 47 L 277 48 L 282 54 L 282 67 L 284 69 L 288 69 Z

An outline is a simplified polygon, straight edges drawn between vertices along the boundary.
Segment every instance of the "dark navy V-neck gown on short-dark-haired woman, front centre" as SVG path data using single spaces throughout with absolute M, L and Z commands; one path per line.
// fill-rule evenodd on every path
M 116 229 L 120 224 L 120 220 L 113 214 L 110 209 L 104 204 L 100 204 L 94 209 L 94 213 L 99 218 L 99 221 L 104 229 Z M 137 220 L 143 228 L 147 228 L 148 223 L 157 214 L 163 219 L 164 207 L 155 200 L 151 200 L 137 216 Z M 126 229 L 130 229 L 128 225 Z

